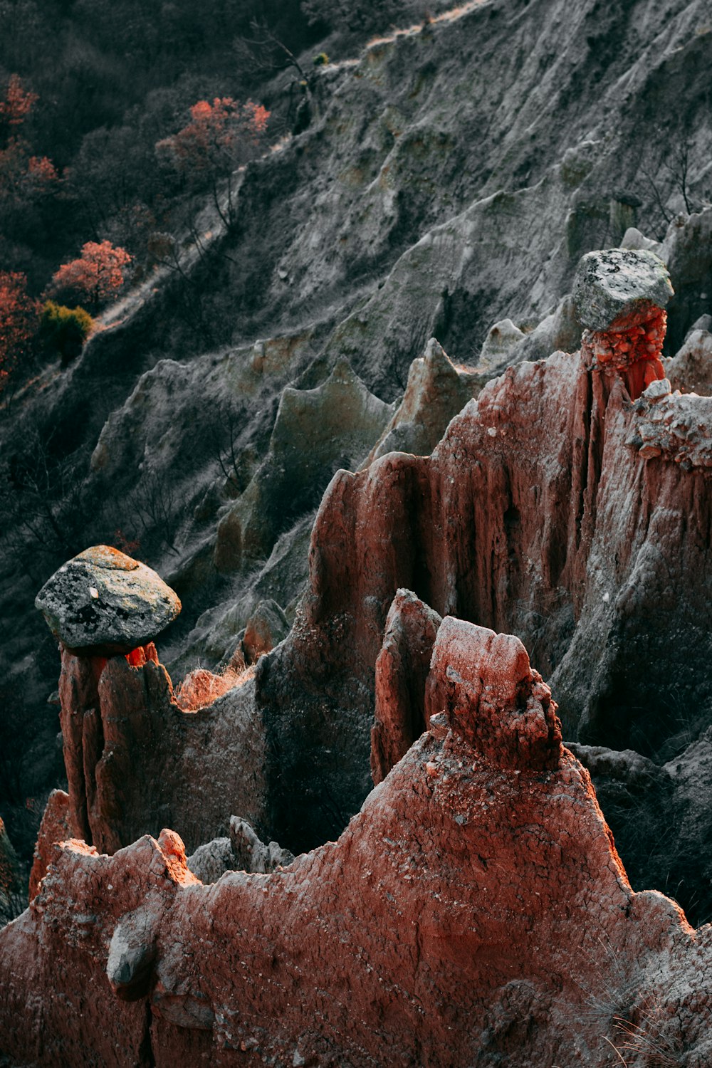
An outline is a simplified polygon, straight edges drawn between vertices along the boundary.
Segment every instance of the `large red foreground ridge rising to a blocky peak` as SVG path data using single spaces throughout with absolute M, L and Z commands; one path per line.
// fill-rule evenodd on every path
M 710 929 L 633 894 L 521 644 L 444 621 L 428 692 L 430 732 L 284 870 L 203 886 L 169 831 L 59 848 L 0 932 L 11 1057 L 573 1068 L 644 1035 L 636 1068 L 708 1064 Z

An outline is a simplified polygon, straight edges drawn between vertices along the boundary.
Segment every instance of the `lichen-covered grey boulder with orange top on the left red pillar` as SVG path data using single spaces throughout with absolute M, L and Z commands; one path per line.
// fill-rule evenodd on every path
M 97 655 L 130 653 L 180 613 L 177 595 L 156 571 L 107 545 L 63 564 L 34 603 L 67 648 Z

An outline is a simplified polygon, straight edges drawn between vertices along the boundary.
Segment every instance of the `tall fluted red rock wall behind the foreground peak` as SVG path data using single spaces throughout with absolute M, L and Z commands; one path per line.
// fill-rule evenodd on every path
M 682 400 L 665 405 L 675 425 Z M 700 409 L 685 407 L 685 425 L 709 424 L 708 398 L 684 405 Z M 646 458 L 643 418 L 617 375 L 558 352 L 488 383 L 431 457 L 392 453 L 334 476 L 302 614 L 257 666 L 283 845 L 333 835 L 327 807 L 352 812 L 365 795 L 374 664 L 398 587 L 517 633 L 582 741 L 653 755 L 673 691 L 709 704 L 709 449 Z

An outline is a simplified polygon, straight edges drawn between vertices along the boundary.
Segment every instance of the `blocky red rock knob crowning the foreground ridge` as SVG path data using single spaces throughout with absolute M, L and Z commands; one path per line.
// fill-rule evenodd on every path
M 561 727 L 551 690 L 513 634 L 446 616 L 428 679 L 430 716 L 501 768 L 555 769 Z

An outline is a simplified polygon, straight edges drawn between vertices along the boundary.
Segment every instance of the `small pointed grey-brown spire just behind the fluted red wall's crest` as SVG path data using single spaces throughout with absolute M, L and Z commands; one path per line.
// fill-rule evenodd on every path
M 449 421 L 477 396 L 487 377 L 479 374 L 479 367 L 476 372 L 456 367 L 442 345 L 431 337 L 425 354 L 413 360 L 402 400 L 364 467 L 392 452 L 427 456 Z

